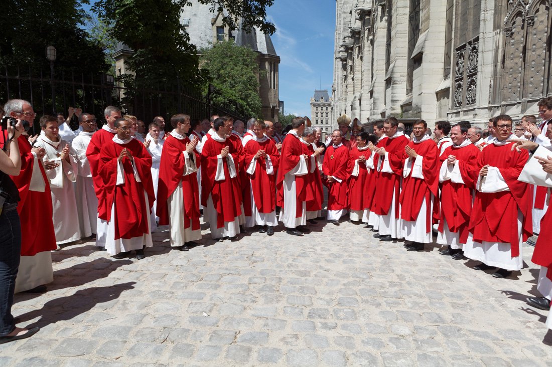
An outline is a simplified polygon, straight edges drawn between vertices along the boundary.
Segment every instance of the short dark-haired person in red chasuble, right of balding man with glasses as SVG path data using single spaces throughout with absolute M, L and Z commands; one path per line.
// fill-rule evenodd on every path
M 352 222 L 368 223 L 368 212 L 370 203 L 368 202 L 368 168 L 367 163 L 371 151 L 368 146 L 368 133 L 361 132 L 357 135 L 354 147 L 349 152 L 351 162 L 351 176 L 347 180 L 348 186 L 348 206 L 349 218 Z

